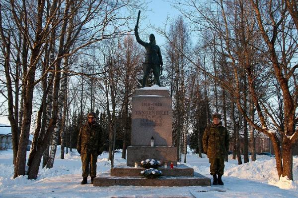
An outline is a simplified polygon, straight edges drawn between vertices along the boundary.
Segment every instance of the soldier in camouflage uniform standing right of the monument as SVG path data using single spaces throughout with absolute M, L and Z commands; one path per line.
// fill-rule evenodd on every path
M 213 114 L 212 119 L 213 122 L 204 131 L 203 147 L 209 158 L 213 184 L 224 185 L 222 175 L 224 174 L 224 159 L 229 146 L 229 134 L 222 125 L 221 114 Z

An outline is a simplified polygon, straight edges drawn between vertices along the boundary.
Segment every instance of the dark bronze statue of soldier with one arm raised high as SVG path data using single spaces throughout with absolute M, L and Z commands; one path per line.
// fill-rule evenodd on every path
M 150 34 L 149 36 L 149 43 L 146 43 L 140 39 L 139 32 L 138 32 L 140 12 L 141 11 L 139 11 L 137 25 L 135 27 L 135 36 L 136 36 L 137 42 L 142 46 L 144 46 L 146 49 L 146 58 L 145 58 L 145 62 L 143 63 L 144 75 L 143 75 L 142 87 L 146 87 L 147 79 L 149 77 L 151 69 L 154 75 L 155 84 L 160 86 L 159 74 L 162 74 L 162 64 L 163 64 L 160 48 L 156 45 L 155 37 L 153 34 Z

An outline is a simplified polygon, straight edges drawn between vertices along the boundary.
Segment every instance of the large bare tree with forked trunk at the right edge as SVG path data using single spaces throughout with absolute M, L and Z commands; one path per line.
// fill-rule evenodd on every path
M 298 120 L 295 113 L 298 99 L 298 88 L 296 86 L 297 75 L 295 75 L 295 69 L 298 65 L 294 67 L 291 66 L 291 59 L 293 58 L 292 54 L 298 49 L 297 24 L 295 24 L 296 29 L 293 29 L 291 21 L 287 20 L 287 9 L 283 1 L 270 2 L 267 5 L 269 9 L 265 10 L 260 9 L 261 5 L 258 1 L 250 0 L 250 2 L 256 14 L 260 33 L 268 47 L 269 58 L 274 69 L 274 76 L 282 90 L 284 99 L 283 126 L 285 128 L 283 130 L 281 125 L 279 125 L 269 113 L 271 106 L 268 103 L 266 103 L 268 106 L 261 103 L 264 109 L 259 108 L 260 102 L 256 96 L 253 95 L 253 100 L 262 125 L 262 128 L 258 128 L 258 130 L 266 134 L 273 142 L 279 177 L 287 176 L 288 179 L 293 180 L 292 151 L 298 140 L 298 130 L 295 127 Z M 261 13 L 270 17 L 270 24 L 265 25 L 265 18 Z M 297 18 L 292 19 L 297 21 Z M 284 32 L 287 32 L 287 34 L 284 34 Z M 294 36 L 295 34 L 296 36 Z M 295 44 L 289 43 L 290 41 L 288 42 L 286 38 L 290 39 L 290 41 L 296 41 L 294 42 Z M 283 46 L 283 48 L 280 48 L 280 46 Z M 277 51 L 280 51 L 283 56 L 280 57 Z M 252 79 L 250 82 L 252 82 Z M 295 86 L 294 90 L 291 85 Z M 269 116 L 273 120 L 275 127 L 278 128 L 278 132 L 282 136 L 282 141 L 278 139 L 277 133 L 270 131 L 264 115 Z M 283 149 L 282 154 L 280 145 Z

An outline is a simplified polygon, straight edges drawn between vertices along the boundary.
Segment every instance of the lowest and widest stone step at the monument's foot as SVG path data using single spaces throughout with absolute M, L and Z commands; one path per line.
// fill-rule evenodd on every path
M 165 177 L 147 179 L 144 177 L 115 177 L 102 174 L 94 178 L 93 186 L 210 186 L 211 179 L 195 173 L 194 177 Z

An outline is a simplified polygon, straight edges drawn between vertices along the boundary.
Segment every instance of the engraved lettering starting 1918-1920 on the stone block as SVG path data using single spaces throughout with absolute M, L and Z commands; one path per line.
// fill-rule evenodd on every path
M 142 102 L 142 106 L 147 110 L 136 111 L 136 115 L 141 117 L 141 126 L 145 127 L 161 127 L 163 123 L 163 116 L 169 115 L 169 111 L 160 110 L 162 103 Z

